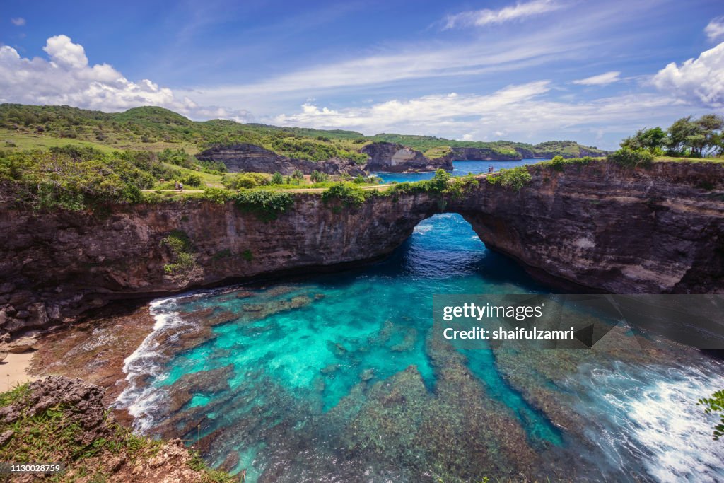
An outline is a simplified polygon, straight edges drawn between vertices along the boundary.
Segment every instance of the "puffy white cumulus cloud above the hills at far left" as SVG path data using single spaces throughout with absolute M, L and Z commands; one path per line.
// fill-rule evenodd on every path
M 49 60 L 24 58 L 12 47 L 0 46 L 0 102 L 67 104 L 101 111 L 161 106 L 198 119 L 250 117 L 243 110 L 199 106 L 148 79 L 131 82 L 109 64 L 90 66 L 83 46 L 67 35 L 49 38 L 43 51 Z

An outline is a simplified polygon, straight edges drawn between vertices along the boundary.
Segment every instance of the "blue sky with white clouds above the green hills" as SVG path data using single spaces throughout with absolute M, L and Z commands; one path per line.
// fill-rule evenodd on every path
M 0 0 L 0 102 L 611 149 L 724 114 L 724 2 Z

